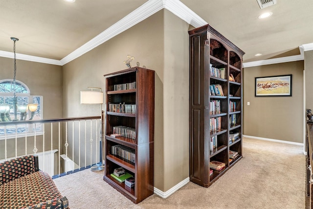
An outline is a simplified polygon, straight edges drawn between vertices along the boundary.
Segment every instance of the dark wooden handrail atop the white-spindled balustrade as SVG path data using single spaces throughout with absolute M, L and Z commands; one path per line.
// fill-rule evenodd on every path
M 101 116 L 51 118 L 51 119 L 42 119 L 42 120 L 5 121 L 5 122 L 0 122 L 0 126 L 19 125 L 19 124 L 34 124 L 34 123 L 51 123 L 51 122 L 73 121 L 73 120 L 90 120 L 90 119 L 101 119 Z

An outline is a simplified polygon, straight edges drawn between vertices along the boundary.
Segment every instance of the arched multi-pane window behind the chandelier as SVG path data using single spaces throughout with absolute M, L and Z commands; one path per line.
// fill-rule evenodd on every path
M 15 91 L 14 91 L 15 90 Z M 17 111 L 14 111 L 13 104 L 14 98 L 17 101 Z M 10 120 L 38 120 L 42 119 L 42 101 L 43 96 L 31 95 L 29 88 L 21 81 L 16 80 L 15 83 L 13 79 L 0 80 L 0 122 L 10 121 Z M 31 112 L 31 108 L 28 108 L 28 104 L 38 104 L 37 109 Z M 22 110 L 24 106 L 25 111 Z M 29 105 L 30 106 L 30 105 Z M 6 108 L 6 112 L 1 112 L 1 108 Z M 25 113 L 22 113 L 25 112 Z M 36 130 L 35 130 L 36 127 Z M 34 132 L 42 132 L 42 125 L 37 124 L 24 124 L 24 125 L 12 125 L 12 126 L 0 126 L 0 139 L 12 138 L 10 136 L 31 136 Z

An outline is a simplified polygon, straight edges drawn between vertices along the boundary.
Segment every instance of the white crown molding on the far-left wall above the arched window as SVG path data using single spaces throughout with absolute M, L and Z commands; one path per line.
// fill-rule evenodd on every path
M 39 63 L 62 66 L 62 63 L 60 60 L 48 59 L 48 58 L 44 58 L 44 57 L 36 57 L 36 56 L 20 54 L 20 53 L 15 53 L 15 54 L 16 54 L 17 60 L 26 60 L 26 61 L 31 61 L 31 62 L 39 62 Z M 14 59 L 14 53 L 8 52 L 8 51 L 0 51 L 0 57 L 6 57 L 6 58 Z

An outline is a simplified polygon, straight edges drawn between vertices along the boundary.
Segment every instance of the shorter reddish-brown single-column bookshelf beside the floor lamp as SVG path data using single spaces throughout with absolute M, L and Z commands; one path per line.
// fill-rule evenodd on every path
M 155 71 L 135 67 L 104 76 L 107 102 L 103 180 L 137 204 L 154 189 Z M 112 137 L 114 133 L 122 136 Z M 119 167 L 134 177 L 133 187 L 112 178 Z

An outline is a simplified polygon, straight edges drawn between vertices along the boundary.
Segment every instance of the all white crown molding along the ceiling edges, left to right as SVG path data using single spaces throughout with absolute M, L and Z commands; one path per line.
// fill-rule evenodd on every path
M 205 22 L 199 15 L 197 15 L 195 12 L 193 12 L 190 8 L 188 8 L 185 4 L 183 4 L 179 0 L 148 0 L 146 3 L 142 4 L 140 7 L 138 7 L 133 12 L 122 18 L 120 21 L 113 24 L 111 27 L 109 27 L 108 29 L 106 29 L 93 39 L 91 39 L 83 46 L 80 46 L 79 48 L 75 49 L 73 52 L 71 52 L 61 60 L 48 59 L 25 54 L 16 54 L 17 55 L 16 58 L 20 60 L 63 66 L 68 62 L 82 56 L 83 54 L 87 53 L 93 48 L 110 40 L 114 36 L 133 27 L 135 24 L 145 20 L 146 18 L 150 17 L 151 15 L 155 14 L 161 9 L 169 10 L 174 15 L 178 16 L 180 19 L 196 28 L 207 24 L 207 22 Z M 243 63 L 243 67 L 248 68 L 254 66 L 304 60 L 303 51 L 313 50 L 313 43 L 301 45 L 299 46 L 299 48 L 300 55 L 260 60 L 255 62 L 247 62 Z M 13 56 L 14 56 L 13 52 L 0 51 L 0 57 L 13 58 Z

